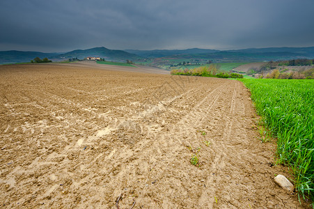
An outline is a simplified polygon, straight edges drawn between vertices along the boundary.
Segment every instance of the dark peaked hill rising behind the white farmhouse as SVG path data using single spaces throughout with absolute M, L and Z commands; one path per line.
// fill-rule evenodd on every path
M 53 58 L 69 59 L 77 57 L 78 59 L 84 59 L 87 56 L 100 57 L 104 58 L 107 61 L 126 61 L 127 59 L 129 60 L 141 59 L 141 57 L 136 54 L 131 54 L 122 50 L 107 49 L 106 47 L 95 47 L 92 49 L 84 50 L 78 49 L 72 52 L 67 52 L 65 54 L 59 54 L 57 56 L 54 56 Z

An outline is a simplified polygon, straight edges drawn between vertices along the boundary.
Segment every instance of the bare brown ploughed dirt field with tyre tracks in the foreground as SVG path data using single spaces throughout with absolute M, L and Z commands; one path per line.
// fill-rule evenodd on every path
M 241 82 L 6 65 L 0 87 L 1 206 L 306 208 Z

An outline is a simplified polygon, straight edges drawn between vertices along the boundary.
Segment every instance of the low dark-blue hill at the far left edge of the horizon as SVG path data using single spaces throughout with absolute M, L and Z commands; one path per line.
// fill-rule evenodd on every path
M 40 59 L 56 56 L 56 53 L 43 52 L 21 52 L 21 51 L 0 51 L 0 64 L 5 63 L 26 63 L 38 56 Z

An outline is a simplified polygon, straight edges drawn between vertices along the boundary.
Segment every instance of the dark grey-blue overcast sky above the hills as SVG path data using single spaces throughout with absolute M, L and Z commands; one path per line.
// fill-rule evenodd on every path
M 0 0 L 0 51 L 314 46 L 314 0 Z

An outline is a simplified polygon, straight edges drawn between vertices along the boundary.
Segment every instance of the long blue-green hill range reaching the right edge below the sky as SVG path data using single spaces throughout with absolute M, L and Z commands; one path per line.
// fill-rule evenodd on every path
M 212 63 L 240 63 L 284 61 L 291 59 L 314 59 L 314 47 L 278 47 L 225 50 L 198 54 L 173 54 L 164 57 L 147 57 L 147 59 L 138 63 L 168 69 L 175 65 L 180 65 L 180 63 L 182 64 L 183 62 L 190 63 L 191 65 L 204 65 L 209 61 Z

